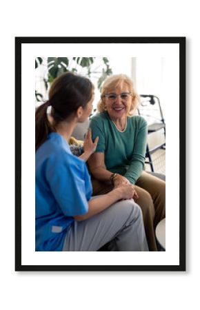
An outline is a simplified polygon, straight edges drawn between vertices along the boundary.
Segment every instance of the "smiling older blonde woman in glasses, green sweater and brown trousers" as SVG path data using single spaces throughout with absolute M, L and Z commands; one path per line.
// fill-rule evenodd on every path
M 139 102 L 132 80 L 112 75 L 101 89 L 99 114 L 92 117 L 92 138 L 99 136 L 96 152 L 88 165 L 92 174 L 93 195 L 110 192 L 122 184 L 134 185 L 134 200 L 141 207 L 150 251 L 157 251 L 154 234 L 166 214 L 166 183 L 143 171 L 147 123 L 133 115 Z

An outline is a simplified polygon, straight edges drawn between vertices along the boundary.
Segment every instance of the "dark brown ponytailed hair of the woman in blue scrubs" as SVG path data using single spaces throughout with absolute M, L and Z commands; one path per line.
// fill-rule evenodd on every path
M 47 109 L 52 106 L 54 124 L 66 120 L 81 106 L 86 107 L 92 99 L 93 85 L 86 77 L 67 72 L 55 79 L 50 87 L 49 100 L 37 108 L 35 113 L 35 149 L 47 139 L 54 127 L 48 120 Z

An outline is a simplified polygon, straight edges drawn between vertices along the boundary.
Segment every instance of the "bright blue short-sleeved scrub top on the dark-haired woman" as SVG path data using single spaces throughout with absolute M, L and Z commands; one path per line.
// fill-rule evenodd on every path
M 35 248 L 62 251 L 72 216 L 88 212 L 92 185 L 85 161 L 52 132 L 35 155 Z

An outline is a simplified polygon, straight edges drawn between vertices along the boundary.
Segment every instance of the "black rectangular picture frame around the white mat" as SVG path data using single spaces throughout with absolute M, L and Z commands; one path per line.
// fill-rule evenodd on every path
M 37 43 L 169 43 L 179 45 L 179 264 L 22 265 L 21 257 L 21 46 Z M 41 56 L 41 55 L 36 55 Z M 33 64 L 34 65 L 34 64 Z M 34 92 L 34 90 L 33 90 Z M 177 194 L 177 195 L 178 195 Z M 117 254 L 116 254 L 117 255 Z M 15 38 L 15 270 L 16 271 L 186 271 L 186 37 L 16 37 Z

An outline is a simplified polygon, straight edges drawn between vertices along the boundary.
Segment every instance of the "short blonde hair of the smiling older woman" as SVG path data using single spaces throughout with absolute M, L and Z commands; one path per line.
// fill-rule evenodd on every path
M 101 99 L 99 103 L 97 103 L 97 110 L 99 112 L 106 110 L 104 104 L 105 94 L 114 88 L 121 87 L 123 84 L 128 85 L 130 88 L 130 93 L 132 94 L 132 104 L 130 106 L 130 112 L 128 113 L 128 116 L 132 116 L 134 114 L 139 104 L 139 95 L 134 89 L 132 80 L 126 74 L 113 74 L 109 76 L 106 81 L 104 81 L 103 87 L 101 88 Z

